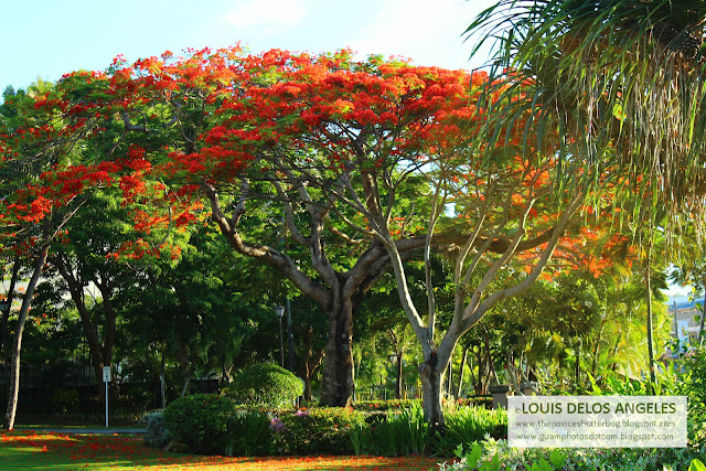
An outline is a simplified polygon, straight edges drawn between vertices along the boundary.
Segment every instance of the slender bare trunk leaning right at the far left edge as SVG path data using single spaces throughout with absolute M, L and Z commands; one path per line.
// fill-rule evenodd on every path
M 18 323 L 14 333 L 14 342 L 12 343 L 12 360 L 10 362 L 10 378 L 9 378 L 9 392 L 8 392 L 8 408 L 6 411 L 4 427 L 8 430 L 14 428 L 14 416 L 18 410 L 18 398 L 20 393 L 20 352 L 22 350 L 22 333 L 24 331 L 24 323 L 30 313 L 30 306 L 32 303 L 32 296 L 34 289 L 39 283 L 42 271 L 44 270 L 44 264 L 46 264 L 46 257 L 49 256 L 49 244 L 44 244 L 40 250 L 40 254 L 34 261 L 34 270 L 32 278 L 24 292 L 22 299 L 22 307 L 18 315 Z

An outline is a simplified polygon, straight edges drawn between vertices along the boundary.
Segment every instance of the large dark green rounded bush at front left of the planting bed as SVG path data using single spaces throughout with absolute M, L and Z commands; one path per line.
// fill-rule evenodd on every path
M 164 420 L 172 441 L 200 454 L 224 454 L 227 425 L 235 410 L 227 397 L 196 394 L 181 397 L 164 409 Z

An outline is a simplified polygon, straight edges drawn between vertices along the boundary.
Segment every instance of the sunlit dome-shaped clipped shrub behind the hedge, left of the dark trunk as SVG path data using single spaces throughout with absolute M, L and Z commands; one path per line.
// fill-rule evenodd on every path
M 292 407 L 303 390 L 297 376 L 282 367 L 264 363 L 235 375 L 224 394 L 239 404 L 281 409 Z

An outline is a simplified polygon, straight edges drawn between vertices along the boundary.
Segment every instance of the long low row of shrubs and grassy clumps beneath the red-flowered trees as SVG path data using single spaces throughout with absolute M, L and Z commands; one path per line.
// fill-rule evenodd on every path
M 223 396 L 194 395 L 148 416 L 150 446 L 201 454 L 366 454 L 439 453 L 485 433 L 506 433 L 504 410 L 459 407 L 447 413 L 446 433 L 429 433 L 419 402 L 402 409 L 355 410 L 317 407 L 292 411 L 243 408 Z

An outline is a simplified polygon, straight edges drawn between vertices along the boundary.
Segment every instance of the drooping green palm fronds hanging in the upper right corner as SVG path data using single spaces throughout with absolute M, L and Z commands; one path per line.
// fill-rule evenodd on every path
M 560 165 L 557 186 L 612 185 L 643 218 L 664 204 L 672 228 L 703 216 L 705 25 L 706 3 L 694 0 L 499 1 L 467 30 L 480 38 L 474 51 L 495 40 L 480 142 L 528 113 L 538 131 L 525 149 L 558 135 L 559 157 L 580 153 L 597 170 Z M 620 176 L 598 179 L 608 162 Z

